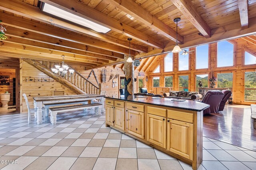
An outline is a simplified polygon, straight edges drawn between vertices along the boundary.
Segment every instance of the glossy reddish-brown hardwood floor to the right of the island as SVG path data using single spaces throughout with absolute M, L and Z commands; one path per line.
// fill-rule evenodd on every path
M 256 151 L 250 106 L 230 105 L 224 111 L 204 116 L 203 136 Z

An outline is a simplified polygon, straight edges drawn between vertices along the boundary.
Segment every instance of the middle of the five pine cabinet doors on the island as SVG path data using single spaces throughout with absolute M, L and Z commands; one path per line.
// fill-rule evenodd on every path
M 144 113 L 128 109 L 128 133 L 144 139 Z

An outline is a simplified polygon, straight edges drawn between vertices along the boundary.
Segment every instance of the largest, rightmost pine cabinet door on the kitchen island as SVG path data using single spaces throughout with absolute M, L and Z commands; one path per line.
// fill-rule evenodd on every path
M 168 119 L 167 149 L 193 160 L 193 124 Z

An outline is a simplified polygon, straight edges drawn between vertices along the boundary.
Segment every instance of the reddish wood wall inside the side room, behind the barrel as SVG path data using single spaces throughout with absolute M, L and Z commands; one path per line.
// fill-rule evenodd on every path
M 0 76 L 10 76 L 10 85 L 0 86 L 0 93 L 5 93 L 8 91 L 10 96 L 10 102 L 8 102 L 8 106 L 13 105 L 13 78 L 16 78 L 16 69 L 12 68 L 0 68 Z M 2 106 L 2 103 L 0 103 Z

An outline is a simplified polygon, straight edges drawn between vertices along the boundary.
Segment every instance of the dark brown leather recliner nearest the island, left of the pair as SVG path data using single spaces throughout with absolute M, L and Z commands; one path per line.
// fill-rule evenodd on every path
M 222 93 L 220 90 L 209 90 L 206 92 L 201 102 L 210 105 L 210 107 L 204 110 L 204 115 L 209 113 L 218 113 L 223 96 L 224 93 Z

